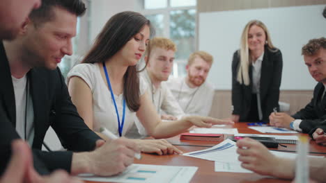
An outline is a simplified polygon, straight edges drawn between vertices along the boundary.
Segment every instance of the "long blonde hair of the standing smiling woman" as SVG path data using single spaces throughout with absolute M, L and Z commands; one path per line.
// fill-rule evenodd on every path
M 271 51 L 277 51 L 277 49 L 272 44 L 272 40 L 270 39 L 270 33 L 268 32 L 268 29 L 265 26 L 265 24 L 263 24 L 263 22 L 256 20 L 256 19 L 249 21 L 248 24 L 244 27 L 244 29 L 242 31 L 242 35 L 241 35 L 240 65 L 238 67 L 238 75 L 237 75 L 238 82 L 240 82 L 240 84 L 244 83 L 244 85 L 249 85 L 249 83 L 250 83 L 249 65 L 251 64 L 251 59 L 250 59 L 250 55 L 249 55 L 248 32 L 249 32 L 249 28 L 251 28 L 251 26 L 254 26 L 254 25 L 263 28 L 263 30 L 265 31 L 267 48 L 270 49 Z M 242 80 L 243 80 L 243 83 L 242 83 Z

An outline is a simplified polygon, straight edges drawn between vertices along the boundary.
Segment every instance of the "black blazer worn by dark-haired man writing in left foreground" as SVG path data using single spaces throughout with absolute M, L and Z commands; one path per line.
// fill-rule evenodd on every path
M 51 125 L 62 145 L 68 150 L 88 151 L 95 148 L 95 141 L 100 139 L 90 130 L 77 113 L 72 104 L 67 86 L 59 68 L 49 70 L 33 68 L 27 73 L 30 83 L 30 93 L 34 111 L 34 139 L 33 156 L 38 157 L 53 171 L 57 168 L 70 171 L 72 151 L 43 152 L 42 142 L 47 129 Z M 0 44 L 0 171 L 8 163 L 10 157 L 10 143 L 20 138 L 15 130 L 15 94 L 10 67 L 3 44 Z M 38 164 L 39 162 L 35 162 Z M 37 170 L 40 168 L 36 167 Z M 42 172 L 40 172 L 42 173 Z

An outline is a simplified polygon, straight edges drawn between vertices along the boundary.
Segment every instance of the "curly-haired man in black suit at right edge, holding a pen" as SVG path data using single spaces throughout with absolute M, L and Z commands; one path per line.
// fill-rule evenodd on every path
M 302 47 L 304 63 L 311 76 L 318 81 L 311 102 L 293 116 L 283 112 L 270 114 L 270 124 L 277 127 L 292 128 L 299 132 L 312 134 L 316 128 L 326 129 L 326 38 L 313 39 Z

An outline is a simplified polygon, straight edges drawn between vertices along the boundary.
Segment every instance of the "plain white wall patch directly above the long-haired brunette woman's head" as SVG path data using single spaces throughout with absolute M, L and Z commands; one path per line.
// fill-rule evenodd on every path
M 91 43 L 100 33 L 104 24 L 110 17 L 118 12 L 130 10 L 134 11 L 138 8 L 139 3 L 136 0 L 93 0 L 91 1 Z

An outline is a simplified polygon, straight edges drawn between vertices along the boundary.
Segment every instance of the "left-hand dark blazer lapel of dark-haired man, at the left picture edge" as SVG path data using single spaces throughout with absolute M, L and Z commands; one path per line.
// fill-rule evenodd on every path
M 3 43 L 0 44 L 0 78 L 1 78 L 1 98 L 4 103 L 3 108 L 8 114 L 8 118 L 16 126 L 16 105 L 15 92 L 13 89 L 13 80 L 6 51 L 3 48 Z

